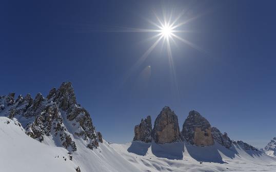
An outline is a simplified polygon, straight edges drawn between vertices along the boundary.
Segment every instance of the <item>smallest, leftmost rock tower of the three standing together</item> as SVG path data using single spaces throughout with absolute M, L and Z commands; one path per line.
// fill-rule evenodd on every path
M 139 125 L 134 127 L 134 138 L 133 141 L 142 141 L 149 143 L 152 141 L 151 132 L 151 118 L 148 116 L 145 120 L 141 120 Z

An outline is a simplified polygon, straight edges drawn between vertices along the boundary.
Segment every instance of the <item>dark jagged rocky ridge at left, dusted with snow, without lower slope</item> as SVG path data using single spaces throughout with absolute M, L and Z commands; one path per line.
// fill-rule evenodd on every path
M 18 95 L 16 100 L 14 97 L 15 93 L 0 97 L 0 116 L 18 119 L 30 137 L 40 142 L 52 138 L 57 146 L 69 151 L 77 150 L 74 136 L 83 139 L 90 149 L 103 142 L 88 111 L 77 104 L 70 82 L 51 89 L 46 98 L 41 93 L 35 99 L 30 94 Z

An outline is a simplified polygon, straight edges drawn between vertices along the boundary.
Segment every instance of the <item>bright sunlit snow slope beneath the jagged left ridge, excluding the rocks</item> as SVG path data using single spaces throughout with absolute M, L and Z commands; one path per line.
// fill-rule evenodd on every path
M 74 139 L 78 149 L 72 153 L 70 161 L 68 150 L 56 147 L 52 142 L 46 145 L 32 139 L 15 118 L 0 117 L 0 138 L 0 171 L 70 172 L 75 171 L 77 166 L 82 172 L 141 171 L 106 141 L 91 150 L 82 143 L 83 140 Z

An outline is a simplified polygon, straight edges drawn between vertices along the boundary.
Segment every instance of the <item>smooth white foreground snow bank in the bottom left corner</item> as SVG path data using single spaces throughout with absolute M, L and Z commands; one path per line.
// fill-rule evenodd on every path
M 0 117 L 0 138 L 1 171 L 69 172 L 78 166 L 69 160 L 65 148 L 48 146 L 27 136 L 16 119 Z

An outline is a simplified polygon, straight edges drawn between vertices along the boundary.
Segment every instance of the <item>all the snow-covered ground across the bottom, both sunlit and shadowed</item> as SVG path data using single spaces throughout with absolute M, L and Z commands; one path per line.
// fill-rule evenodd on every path
M 260 151 L 213 146 L 193 146 L 186 142 L 155 144 L 134 141 L 113 144 L 104 141 L 90 150 L 73 138 L 78 149 L 69 159 L 68 150 L 52 142 L 40 143 L 27 136 L 14 118 L 0 117 L 0 171 L 40 172 L 128 172 L 128 171 L 276 171 L 276 159 Z M 49 138 L 50 139 L 50 138 Z M 66 160 L 65 160 L 66 159 Z

